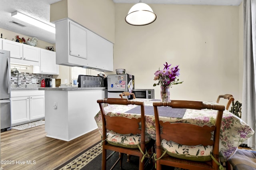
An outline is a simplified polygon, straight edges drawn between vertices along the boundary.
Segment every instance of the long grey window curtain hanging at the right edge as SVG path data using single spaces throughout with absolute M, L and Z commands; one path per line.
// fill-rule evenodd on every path
M 256 128 L 256 0 L 243 0 L 244 13 L 244 77 L 242 90 L 242 119 Z M 247 140 L 255 149 L 255 133 Z

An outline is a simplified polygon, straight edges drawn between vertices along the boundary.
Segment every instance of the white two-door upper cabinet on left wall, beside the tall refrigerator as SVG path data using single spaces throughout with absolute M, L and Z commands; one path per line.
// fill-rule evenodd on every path
M 3 49 L 10 51 L 11 63 L 39 65 L 40 48 L 10 40 L 3 40 L 2 43 Z

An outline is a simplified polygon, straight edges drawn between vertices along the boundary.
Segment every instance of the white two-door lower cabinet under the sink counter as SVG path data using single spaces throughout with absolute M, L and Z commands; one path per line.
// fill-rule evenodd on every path
M 44 91 L 11 91 L 12 126 L 40 118 L 44 118 Z

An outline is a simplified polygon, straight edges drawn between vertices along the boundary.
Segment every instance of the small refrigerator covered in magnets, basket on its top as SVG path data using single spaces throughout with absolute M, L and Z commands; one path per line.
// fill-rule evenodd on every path
M 120 98 L 122 92 L 132 92 L 134 89 L 134 75 L 114 74 L 108 75 L 108 98 Z M 132 96 L 128 96 L 132 99 Z

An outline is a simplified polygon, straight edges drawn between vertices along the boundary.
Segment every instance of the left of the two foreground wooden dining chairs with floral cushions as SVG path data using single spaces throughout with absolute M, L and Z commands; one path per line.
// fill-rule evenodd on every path
M 102 170 L 106 170 L 106 150 L 140 157 L 139 170 L 144 169 L 147 151 L 154 146 L 154 140 L 145 134 L 144 102 L 128 99 L 108 98 L 97 100 L 102 115 Z M 103 103 L 110 105 L 138 105 L 141 115 L 138 119 L 121 116 L 106 115 Z M 151 150 L 152 151 L 152 150 Z M 122 154 L 120 154 L 120 168 L 122 168 Z M 116 165 L 116 163 L 114 165 Z

